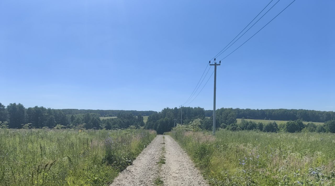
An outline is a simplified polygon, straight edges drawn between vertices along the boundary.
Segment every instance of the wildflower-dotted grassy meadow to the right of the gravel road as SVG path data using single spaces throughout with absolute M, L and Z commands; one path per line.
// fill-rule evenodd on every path
M 175 129 L 210 185 L 335 185 L 335 135 Z

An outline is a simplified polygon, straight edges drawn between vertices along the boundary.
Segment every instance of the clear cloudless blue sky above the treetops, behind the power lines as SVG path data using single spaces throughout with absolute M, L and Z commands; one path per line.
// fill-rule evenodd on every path
M 269 1 L 2 0 L 0 102 L 178 107 L 208 61 Z M 224 54 L 290 2 L 279 1 Z M 296 0 L 223 60 L 216 108 L 335 111 L 334 9 L 333 0 Z M 188 106 L 212 109 L 213 76 Z

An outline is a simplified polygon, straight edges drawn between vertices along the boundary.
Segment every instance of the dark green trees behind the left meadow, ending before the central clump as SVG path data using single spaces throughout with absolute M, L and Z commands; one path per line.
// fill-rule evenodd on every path
M 72 111 L 66 112 L 69 110 Z M 73 110 L 76 109 L 51 109 L 38 106 L 25 108 L 20 103 L 11 103 L 5 107 L 0 103 L 0 127 L 115 129 L 128 128 L 131 125 L 144 126 L 141 111 L 101 112 L 102 110 L 89 110 L 92 111 L 90 113 L 87 110 L 77 110 L 78 112 Z M 115 113 L 117 118 L 100 120 L 99 113 Z M 138 114 L 136 116 L 133 113 Z M 143 111 L 143 113 L 155 112 Z

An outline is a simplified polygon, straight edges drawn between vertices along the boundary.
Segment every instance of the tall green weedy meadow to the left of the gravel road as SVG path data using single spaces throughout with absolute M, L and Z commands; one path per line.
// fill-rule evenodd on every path
M 155 136 L 142 129 L 0 129 L 0 185 L 108 185 Z

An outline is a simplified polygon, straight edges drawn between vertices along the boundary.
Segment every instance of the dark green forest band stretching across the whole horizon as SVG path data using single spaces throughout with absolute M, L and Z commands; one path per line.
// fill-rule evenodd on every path
M 51 109 L 45 107 L 25 108 L 22 104 L 11 103 L 7 107 L 0 103 L 0 127 L 8 128 L 85 128 L 85 129 L 117 129 L 129 126 L 145 127 L 156 130 L 157 133 L 170 131 L 175 124 L 191 124 L 195 119 L 200 122 L 200 128 L 212 129 L 212 111 L 200 107 L 164 108 L 160 112 L 155 111 L 124 111 L 124 110 L 78 110 L 78 109 Z M 101 120 L 99 117 L 117 116 Z M 143 116 L 149 116 L 146 123 Z M 263 129 L 257 123 L 243 121 L 237 125 L 236 118 L 257 118 L 271 120 L 287 120 L 289 126 L 300 125 L 300 121 L 326 122 L 335 119 L 335 112 L 295 110 L 295 109 L 232 109 L 221 108 L 216 112 L 216 127 L 231 130 Z M 295 123 L 294 123 L 295 122 Z M 250 124 L 250 126 L 249 126 Z M 272 125 L 272 124 L 271 124 Z M 312 124 L 311 124 L 312 125 Z M 247 127 L 249 126 L 249 127 Z M 283 126 L 282 126 L 283 127 Z M 294 131 L 295 128 L 292 130 Z M 302 126 L 298 126 L 301 131 Z M 314 127 L 314 125 L 313 125 Z M 262 128 L 262 129 L 261 129 Z M 276 131 L 278 126 L 273 131 Z M 320 130 L 323 130 L 320 128 Z M 269 129 L 272 131 L 272 129 Z

